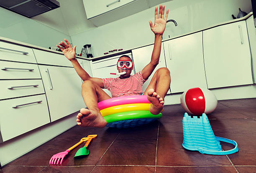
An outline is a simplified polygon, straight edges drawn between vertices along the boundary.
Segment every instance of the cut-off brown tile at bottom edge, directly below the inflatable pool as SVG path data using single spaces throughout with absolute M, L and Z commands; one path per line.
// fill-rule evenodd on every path
M 96 166 L 92 173 L 154 173 L 151 166 Z

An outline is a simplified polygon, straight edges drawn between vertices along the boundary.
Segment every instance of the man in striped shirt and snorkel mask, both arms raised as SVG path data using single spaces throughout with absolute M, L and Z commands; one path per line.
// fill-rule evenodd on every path
M 86 73 L 79 65 L 75 58 L 76 46 L 72 48 L 68 40 L 61 41 L 56 45 L 64 55 L 72 62 L 77 74 L 84 81 L 82 84 L 82 97 L 88 109 L 82 108 L 77 115 L 77 125 L 82 127 L 105 127 L 107 122 L 100 114 L 98 102 L 109 99 L 110 96 L 105 93 L 102 88 L 110 90 L 112 97 L 119 97 L 125 95 L 140 95 L 143 93 L 142 85 L 151 75 L 159 63 L 161 53 L 161 38 L 166 27 L 166 20 L 168 17 L 169 9 L 166 11 L 164 18 L 164 5 L 160 5 L 159 14 L 157 7 L 155 8 L 155 22 L 154 25 L 149 21 L 149 25 L 155 34 L 154 49 L 151 56 L 151 61 L 146 65 L 143 70 L 131 75 L 133 64 L 131 58 L 123 55 L 119 58 L 117 69 L 119 73 L 126 72 L 120 75 L 119 78 L 92 78 Z M 158 114 L 164 107 L 164 97 L 169 90 L 171 82 L 170 72 L 167 68 L 159 68 L 153 75 L 148 88 L 143 95 L 147 95 L 151 103 L 150 112 Z

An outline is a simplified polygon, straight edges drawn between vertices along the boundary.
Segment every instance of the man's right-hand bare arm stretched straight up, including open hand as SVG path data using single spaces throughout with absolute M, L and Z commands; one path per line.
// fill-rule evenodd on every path
M 144 79 L 148 79 L 148 77 L 152 74 L 156 65 L 159 63 L 160 53 L 161 53 L 161 39 L 165 30 L 166 20 L 168 17 L 169 9 L 166 11 L 166 15 L 164 18 L 164 5 L 160 5 L 159 7 L 159 15 L 157 13 L 157 7 L 155 8 L 155 23 L 149 21 L 149 25 L 153 33 L 155 34 L 155 42 L 154 49 L 151 56 L 151 61 L 146 65 L 142 70 L 142 76 Z

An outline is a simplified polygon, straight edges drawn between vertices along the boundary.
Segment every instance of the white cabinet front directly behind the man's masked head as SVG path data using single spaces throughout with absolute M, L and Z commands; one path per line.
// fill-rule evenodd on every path
M 125 54 L 132 58 L 131 54 Z M 102 60 L 97 60 L 92 62 L 92 76 L 94 78 L 118 78 L 117 75 L 110 75 L 110 73 L 118 73 L 117 62 L 118 58 L 122 55 L 105 58 Z M 134 68 L 131 72 L 131 75 L 134 75 Z M 103 89 L 110 97 L 111 93 L 107 89 Z

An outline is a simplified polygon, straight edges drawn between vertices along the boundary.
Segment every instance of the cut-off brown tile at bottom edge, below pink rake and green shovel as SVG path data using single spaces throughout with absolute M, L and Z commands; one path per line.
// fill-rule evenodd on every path
M 40 173 L 90 173 L 94 166 L 47 167 Z

